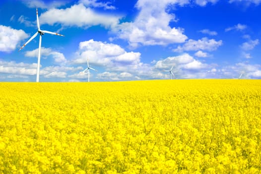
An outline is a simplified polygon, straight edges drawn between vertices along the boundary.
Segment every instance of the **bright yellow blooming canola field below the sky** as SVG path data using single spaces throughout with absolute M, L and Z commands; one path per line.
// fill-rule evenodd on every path
M 260 80 L 0 83 L 0 174 L 256 174 L 260 142 Z

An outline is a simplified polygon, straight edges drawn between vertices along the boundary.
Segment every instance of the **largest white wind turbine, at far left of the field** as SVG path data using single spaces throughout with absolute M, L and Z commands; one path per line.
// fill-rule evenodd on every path
M 36 75 L 36 82 L 39 82 L 42 35 L 44 35 L 45 33 L 54 34 L 54 35 L 58 35 L 58 36 L 64 36 L 64 35 L 54 33 L 54 32 L 51 32 L 51 31 L 41 30 L 37 8 L 36 8 L 36 19 L 37 19 L 37 28 L 38 28 L 37 32 L 20 48 L 20 50 L 23 49 L 25 47 L 25 45 L 27 45 L 29 42 L 31 42 L 31 40 L 33 40 L 38 35 L 38 33 L 40 34 L 39 50 L 38 50 L 38 62 L 37 62 L 37 75 Z

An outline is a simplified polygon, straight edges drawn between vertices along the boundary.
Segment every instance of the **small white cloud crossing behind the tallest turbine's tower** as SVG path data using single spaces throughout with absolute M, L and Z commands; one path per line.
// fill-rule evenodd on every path
M 32 51 L 26 51 L 25 56 L 26 57 L 38 57 L 38 48 Z M 52 56 L 54 61 L 56 63 L 63 63 L 65 64 L 67 60 L 65 59 L 65 56 L 63 53 L 59 53 L 57 51 L 52 50 L 51 48 L 41 48 L 41 56 Z

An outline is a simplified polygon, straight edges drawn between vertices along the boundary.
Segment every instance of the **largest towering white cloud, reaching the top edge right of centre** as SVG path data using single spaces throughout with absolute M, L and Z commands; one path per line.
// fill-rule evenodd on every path
M 171 28 L 170 21 L 174 14 L 168 14 L 170 4 L 184 4 L 187 0 L 138 0 L 136 7 L 139 13 L 133 22 L 125 22 L 114 28 L 118 38 L 128 40 L 132 48 L 139 45 L 168 45 L 183 43 L 187 36 L 179 27 Z

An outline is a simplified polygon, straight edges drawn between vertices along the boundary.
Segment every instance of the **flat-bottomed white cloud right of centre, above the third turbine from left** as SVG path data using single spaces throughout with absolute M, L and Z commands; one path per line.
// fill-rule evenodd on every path
M 208 39 L 207 37 L 203 37 L 199 40 L 189 39 L 182 47 L 178 46 L 178 48 L 174 49 L 175 52 L 182 51 L 197 51 L 197 50 L 207 50 L 214 51 L 219 46 L 222 45 L 222 40 L 216 41 L 214 39 Z

